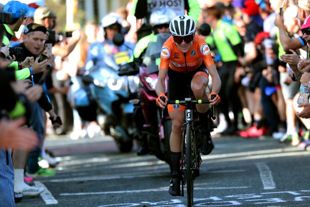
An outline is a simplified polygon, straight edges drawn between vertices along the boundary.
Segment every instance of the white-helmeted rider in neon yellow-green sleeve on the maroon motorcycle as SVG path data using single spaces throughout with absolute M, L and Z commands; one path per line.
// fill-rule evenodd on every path
M 162 7 L 152 12 L 150 16 L 150 25 L 152 26 L 153 32 L 148 36 L 141 38 L 135 46 L 133 57 L 128 63 L 133 63 L 133 67 L 139 67 L 142 63 L 142 56 L 144 55 L 148 43 L 155 34 L 159 33 L 170 33 L 169 24 L 170 21 L 176 16 L 173 9 L 169 7 Z M 143 139 L 140 143 L 141 147 L 138 149 L 138 155 L 145 155 L 149 152 L 147 140 Z

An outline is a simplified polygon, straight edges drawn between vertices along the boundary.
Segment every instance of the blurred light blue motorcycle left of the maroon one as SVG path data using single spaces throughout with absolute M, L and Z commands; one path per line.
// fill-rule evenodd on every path
M 133 147 L 135 129 L 134 105 L 129 103 L 133 97 L 128 90 L 137 90 L 138 83 L 137 78 L 117 74 L 119 60 L 115 57 L 124 56 L 124 51 L 113 57 L 105 55 L 102 61 L 87 70 L 81 77 L 86 87 L 75 93 L 78 97 L 75 105 L 82 119 L 96 120 L 105 134 L 114 137 L 121 152 L 129 152 Z

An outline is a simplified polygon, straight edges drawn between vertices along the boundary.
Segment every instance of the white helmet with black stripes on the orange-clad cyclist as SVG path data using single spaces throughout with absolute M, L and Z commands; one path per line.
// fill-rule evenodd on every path
M 169 25 L 170 33 L 174 36 L 187 36 L 195 34 L 196 22 L 193 17 L 188 15 L 179 15 L 173 18 Z

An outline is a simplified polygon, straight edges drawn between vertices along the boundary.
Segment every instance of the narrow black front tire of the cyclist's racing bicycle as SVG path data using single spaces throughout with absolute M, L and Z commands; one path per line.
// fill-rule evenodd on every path
M 187 206 L 193 205 L 193 190 L 194 190 L 194 154 L 191 125 L 186 124 L 186 191 L 187 191 Z

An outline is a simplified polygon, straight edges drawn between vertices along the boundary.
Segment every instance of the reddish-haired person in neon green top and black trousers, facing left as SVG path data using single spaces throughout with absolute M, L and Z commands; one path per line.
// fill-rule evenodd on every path
M 237 86 L 234 82 L 234 73 L 238 65 L 238 58 L 242 56 L 241 38 L 232 25 L 224 23 L 220 18 L 222 13 L 217 6 L 208 7 L 202 11 L 203 20 L 210 24 L 213 32 L 213 42 L 221 56 L 223 65 L 219 68 L 219 77 L 225 80 L 222 83 L 222 90 L 219 96 L 222 97 L 222 103 L 219 110 L 224 114 L 228 127 L 222 134 L 236 134 L 237 132 L 237 114 L 238 104 L 233 101 L 237 97 Z M 208 45 L 213 43 L 207 42 Z M 223 101 L 224 99 L 224 101 Z M 232 108 L 234 114 L 234 123 L 231 122 L 228 110 Z

